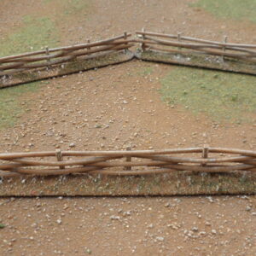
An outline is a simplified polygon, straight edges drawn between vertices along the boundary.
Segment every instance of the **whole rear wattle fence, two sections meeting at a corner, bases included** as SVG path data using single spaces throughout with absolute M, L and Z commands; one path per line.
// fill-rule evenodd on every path
M 181 33 L 171 35 L 143 30 L 136 34 L 137 38 L 131 38 L 131 33 L 124 32 L 120 36 L 93 43 L 89 41 L 86 44 L 46 48 L 20 55 L 0 57 L 0 88 L 131 61 L 134 55 L 145 61 L 163 61 L 192 67 L 256 74 L 256 44 L 228 44 L 226 37 L 224 42 L 215 42 L 184 37 Z M 150 57 L 126 50 L 136 44 L 141 46 L 138 48 L 140 52 L 149 51 L 165 55 Z M 104 59 L 104 56 L 113 53 L 122 53 L 122 55 L 116 56 L 113 60 Z M 184 61 L 184 58 L 179 58 L 179 55 L 186 55 L 188 58 Z M 195 58 L 188 61 L 189 55 Z M 198 58 L 203 55 L 205 55 L 203 60 Z M 101 57 L 102 59 L 99 60 Z

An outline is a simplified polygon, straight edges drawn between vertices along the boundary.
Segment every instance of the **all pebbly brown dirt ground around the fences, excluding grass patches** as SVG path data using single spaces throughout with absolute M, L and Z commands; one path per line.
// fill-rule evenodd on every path
M 195 1 L 89 2 L 86 19 L 73 16 L 58 22 L 61 45 L 142 27 L 256 43 L 255 24 L 220 20 L 189 8 Z M 2 37 L 17 29 L 24 15 L 59 15 L 58 1 L 3 0 L 0 7 Z M 147 73 L 148 68 L 153 72 Z M 173 68 L 131 61 L 50 79 L 20 98 L 27 111 L 15 126 L 0 131 L 1 151 L 204 144 L 256 150 L 255 125 L 216 122 L 163 103 L 160 78 Z M 255 196 L 1 198 L 0 223 L 5 224 L 0 255 L 256 254 Z

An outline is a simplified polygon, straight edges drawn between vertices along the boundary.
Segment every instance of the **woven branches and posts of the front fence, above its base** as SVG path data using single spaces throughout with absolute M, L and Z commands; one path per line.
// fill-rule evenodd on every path
M 207 147 L 165 150 L 130 150 L 127 148 L 123 151 L 61 152 L 61 150 L 56 150 L 0 154 L 0 161 L 0 177 L 50 176 L 70 173 L 129 176 L 177 171 L 256 172 L 256 151 Z

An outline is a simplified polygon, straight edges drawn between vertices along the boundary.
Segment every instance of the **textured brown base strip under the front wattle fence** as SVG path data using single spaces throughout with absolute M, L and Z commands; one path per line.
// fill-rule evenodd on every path
M 0 196 L 256 195 L 251 172 L 4 177 Z

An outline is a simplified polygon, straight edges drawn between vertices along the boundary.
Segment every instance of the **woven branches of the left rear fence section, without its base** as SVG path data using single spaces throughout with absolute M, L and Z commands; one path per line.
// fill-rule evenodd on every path
M 66 63 L 76 59 L 86 59 L 88 55 L 108 55 L 121 49 L 131 47 L 131 34 L 124 33 L 115 38 L 87 44 L 78 44 L 73 46 L 44 49 L 34 52 L 28 52 L 20 55 L 11 55 L 0 58 L 0 77 L 24 72 L 27 70 L 54 67 L 56 64 Z

